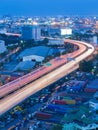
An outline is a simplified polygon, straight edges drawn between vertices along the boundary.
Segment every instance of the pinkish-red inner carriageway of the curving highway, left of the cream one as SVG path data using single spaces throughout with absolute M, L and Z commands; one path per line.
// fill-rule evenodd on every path
M 51 66 L 43 65 L 42 67 L 36 69 L 31 73 L 26 74 L 10 83 L 3 85 L 2 87 L 0 87 L 0 98 L 10 94 L 11 92 L 14 92 L 17 89 L 20 89 L 22 86 L 27 85 L 28 83 L 38 79 L 39 77 L 42 77 L 43 75 L 53 71 L 54 69 L 66 64 L 68 62 L 68 57 L 75 58 L 76 56 L 86 51 L 86 47 L 82 44 L 80 45 L 79 43 L 76 43 L 72 40 L 66 40 L 65 44 L 66 42 L 77 44 L 79 46 L 79 50 L 57 57 L 50 61 Z

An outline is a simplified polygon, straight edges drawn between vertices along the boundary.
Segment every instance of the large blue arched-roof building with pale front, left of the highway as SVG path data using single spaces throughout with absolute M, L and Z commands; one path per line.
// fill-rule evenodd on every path
M 47 56 L 50 56 L 54 53 L 54 50 L 46 46 L 37 46 L 30 49 L 24 50 L 19 56 L 18 59 L 22 61 L 36 61 L 42 62 Z

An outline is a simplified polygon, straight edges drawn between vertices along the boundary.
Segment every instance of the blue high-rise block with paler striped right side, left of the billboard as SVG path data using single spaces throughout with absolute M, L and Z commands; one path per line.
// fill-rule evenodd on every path
M 41 37 L 41 29 L 37 25 L 22 27 L 22 38 L 24 40 L 39 40 Z

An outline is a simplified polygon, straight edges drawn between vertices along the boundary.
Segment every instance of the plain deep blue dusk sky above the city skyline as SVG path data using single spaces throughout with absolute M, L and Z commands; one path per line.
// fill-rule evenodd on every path
M 0 15 L 98 15 L 98 0 L 0 0 Z

